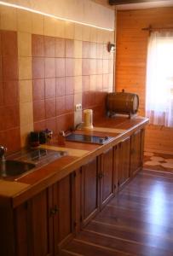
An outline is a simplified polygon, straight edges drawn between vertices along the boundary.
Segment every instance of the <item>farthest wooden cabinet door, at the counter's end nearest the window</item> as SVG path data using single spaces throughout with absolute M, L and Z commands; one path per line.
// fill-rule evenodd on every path
M 130 177 L 141 168 L 141 130 L 131 136 L 130 143 Z

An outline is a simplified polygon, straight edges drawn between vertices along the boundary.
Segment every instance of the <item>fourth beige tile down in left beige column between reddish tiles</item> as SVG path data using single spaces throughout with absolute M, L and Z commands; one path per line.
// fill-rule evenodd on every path
M 20 126 L 33 123 L 33 104 L 32 102 L 20 103 Z

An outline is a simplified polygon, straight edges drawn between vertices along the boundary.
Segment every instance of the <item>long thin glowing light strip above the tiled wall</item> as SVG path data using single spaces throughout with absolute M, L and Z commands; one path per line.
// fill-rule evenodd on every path
M 50 18 L 54 18 L 56 20 L 64 20 L 64 21 L 73 22 L 73 23 L 76 23 L 76 24 L 84 25 L 84 26 L 99 28 L 99 29 L 102 29 L 102 30 L 110 31 L 110 32 L 114 31 L 112 28 L 107 28 L 107 27 L 102 27 L 102 26 L 95 26 L 93 24 L 81 22 L 81 21 L 78 21 L 78 20 L 70 20 L 70 19 L 62 18 L 62 17 L 56 16 L 56 15 L 49 15 L 47 13 L 43 13 L 41 11 L 37 11 L 35 9 L 27 8 L 27 7 L 24 7 L 24 6 L 21 6 L 21 5 L 18 5 L 18 4 L 14 4 L 14 3 L 6 3 L 6 2 L 3 2 L 3 1 L 0 1 L 0 5 L 14 7 L 16 9 L 23 9 L 23 10 L 26 10 L 26 11 L 29 11 L 29 12 L 32 12 L 32 13 L 35 13 L 35 14 L 38 14 L 38 15 L 44 15 L 44 16 L 47 16 L 47 17 L 50 17 Z

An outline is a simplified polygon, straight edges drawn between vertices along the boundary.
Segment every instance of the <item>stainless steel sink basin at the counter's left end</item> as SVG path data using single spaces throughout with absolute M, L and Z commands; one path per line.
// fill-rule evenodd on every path
M 36 165 L 18 160 L 0 160 L 0 177 L 15 177 L 28 172 Z

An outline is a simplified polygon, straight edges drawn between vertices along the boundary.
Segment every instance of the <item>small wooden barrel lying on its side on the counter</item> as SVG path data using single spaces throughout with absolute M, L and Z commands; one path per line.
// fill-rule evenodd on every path
M 129 92 L 112 92 L 107 95 L 107 111 L 112 113 L 137 113 L 139 96 Z

